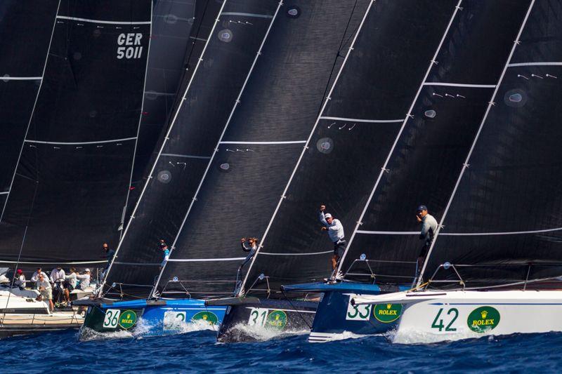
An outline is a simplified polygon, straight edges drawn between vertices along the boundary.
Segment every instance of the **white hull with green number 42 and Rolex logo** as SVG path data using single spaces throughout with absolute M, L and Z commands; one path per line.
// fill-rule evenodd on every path
M 384 302 L 405 304 L 393 334 L 396 343 L 562 331 L 562 290 L 424 291 L 384 296 Z M 377 298 L 356 301 L 383 302 Z

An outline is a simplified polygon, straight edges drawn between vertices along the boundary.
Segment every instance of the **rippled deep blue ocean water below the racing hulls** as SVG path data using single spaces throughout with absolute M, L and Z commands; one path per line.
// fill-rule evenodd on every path
M 510 335 L 433 345 L 383 336 L 310 344 L 306 335 L 217 344 L 211 331 L 79 342 L 65 331 L 0 340 L 1 373 L 559 372 L 562 334 Z

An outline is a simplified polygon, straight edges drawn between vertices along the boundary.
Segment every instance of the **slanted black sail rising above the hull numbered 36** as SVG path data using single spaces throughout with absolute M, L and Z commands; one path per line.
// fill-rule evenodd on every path
M 164 239 L 171 246 L 277 8 L 275 1 L 226 0 L 211 17 L 211 34 L 178 98 L 165 141 L 152 166 L 110 268 L 105 292 L 147 297 L 159 273 Z M 221 11 L 218 14 L 218 11 Z M 208 42 L 207 42 L 208 41 Z M 220 269 L 216 270 L 220 272 Z

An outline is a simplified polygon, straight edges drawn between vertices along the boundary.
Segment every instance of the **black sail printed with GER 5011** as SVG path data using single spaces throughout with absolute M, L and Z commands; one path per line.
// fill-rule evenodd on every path
M 143 101 L 150 1 L 60 1 L 0 222 L 4 261 L 95 263 L 116 240 Z

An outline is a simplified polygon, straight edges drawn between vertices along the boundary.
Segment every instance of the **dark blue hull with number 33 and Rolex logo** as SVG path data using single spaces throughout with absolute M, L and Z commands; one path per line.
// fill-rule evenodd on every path
M 289 291 L 324 293 L 316 310 L 309 342 L 374 335 L 392 330 L 402 312 L 400 305 L 350 305 L 350 295 L 379 295 L 407 290 L 409 286 L 378 286 L 376 284 L 341 282 L 336 284 L 305 283 L 285 286 Z

